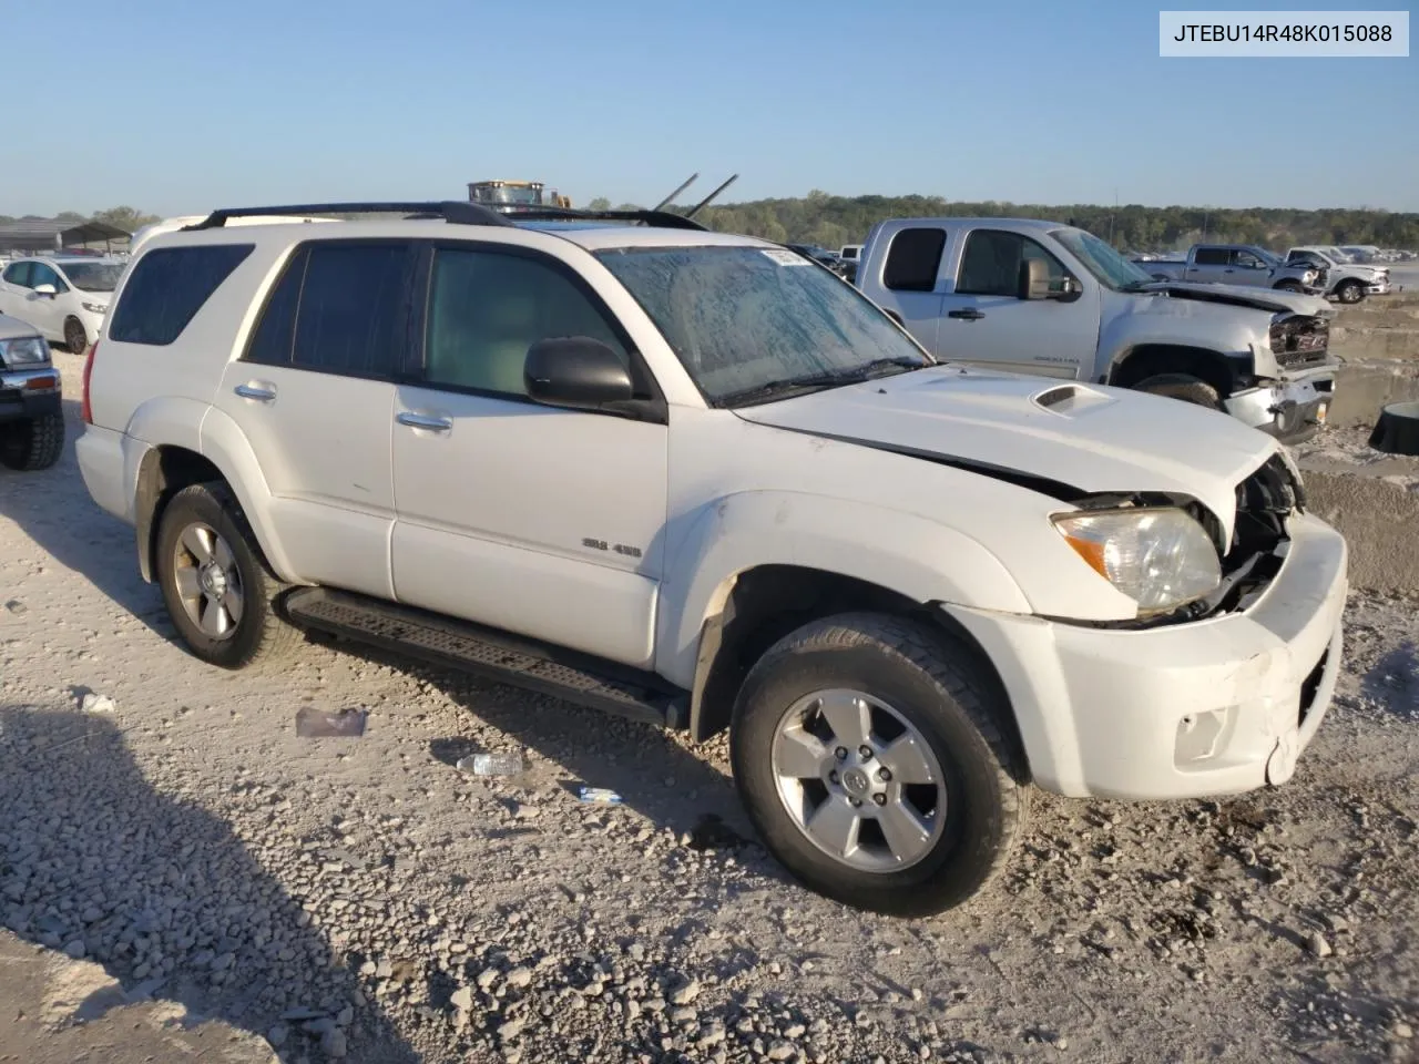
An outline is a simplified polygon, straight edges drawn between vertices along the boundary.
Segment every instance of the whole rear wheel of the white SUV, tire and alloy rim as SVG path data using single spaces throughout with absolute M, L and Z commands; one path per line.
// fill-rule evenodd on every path
M 221 582 L 201 573 L 216 562 Z M 275 611 L 285 584 L 271 573 L 231 489 L 221 482 L 183 488 L 163 509 L 158 531 L 158 584 L 177 633 L 211 665 L 244 668 L 272 661 L 301 643 L 299 628 Z M 204 627 L 207 626 L 207 627 Z

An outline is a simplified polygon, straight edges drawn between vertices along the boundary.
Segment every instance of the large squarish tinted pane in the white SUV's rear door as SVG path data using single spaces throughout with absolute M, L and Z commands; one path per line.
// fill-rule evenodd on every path
M 409 257 L 410 245 L 402 243 L 311 244 L 295 309 L 292 365 L 393 376 L 404 348 Z

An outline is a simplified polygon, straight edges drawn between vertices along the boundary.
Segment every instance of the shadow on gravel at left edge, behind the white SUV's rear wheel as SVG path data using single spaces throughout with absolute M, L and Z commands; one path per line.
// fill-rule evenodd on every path
M 64 457 L 43 472 L 0 468 L 0 521 L 10 519 L 57 565 L 82 573 L 95 587 L 163 638 L 173 638 L 162 594 L 138 572 L 133 531 L 89 498 L 74 441 L 84 426 L 79 404 L 64 400 Z

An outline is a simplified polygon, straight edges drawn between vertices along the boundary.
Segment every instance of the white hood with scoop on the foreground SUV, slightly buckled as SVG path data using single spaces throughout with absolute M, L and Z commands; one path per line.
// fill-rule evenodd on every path
M 1236 485 L 1276 453 L 1226 414 L 1138 392 L 932 366 L 741 407 L 755 424 L 911 454 L 1071 498 L 1188 495 L 1232 539 Z

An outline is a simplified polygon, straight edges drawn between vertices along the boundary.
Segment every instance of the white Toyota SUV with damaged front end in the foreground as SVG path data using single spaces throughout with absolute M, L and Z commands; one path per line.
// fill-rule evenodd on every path
M 1293 773 L 1347 552 L 1270 437 L 937 363 L 677 216 L 400 206 L 156 237 L 91 352 L 84 480 L 203 660 L 318 628 L 728 726 L 769 848 L 902 914 L 1003 865 L 1030 785 Z

